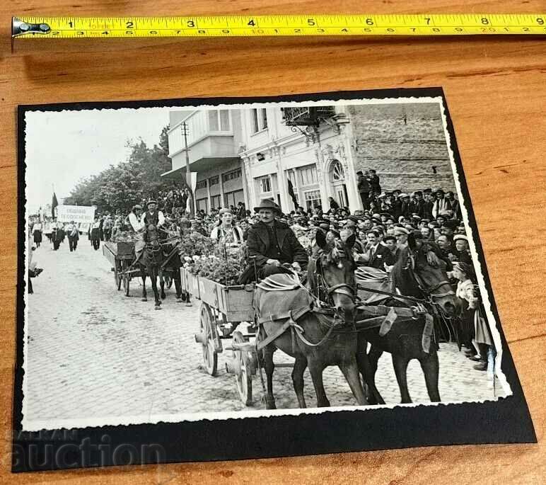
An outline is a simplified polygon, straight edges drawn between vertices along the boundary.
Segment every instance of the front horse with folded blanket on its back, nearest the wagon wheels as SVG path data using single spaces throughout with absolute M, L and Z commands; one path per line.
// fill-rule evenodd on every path
M 262 280 L 255 288 L 254 305 L 262 344 L 259 358 L 267 375 L 267 409 L 276 408 L 272 377 L 273 353 L 277 348 L 296 359 L 292 382 L 300 408 L 307 407 L 303 396 L 306 367 L 315 387 L 317 406 L 330 406 L 323 385 L 323 370 L 329 365 L 337 365 L 343 372 L 356 401 L 368 404 L 356 363 L 356 333 L 352 326 L 336 325 L 342 320 L 346 324 L 354 321 L 354 240 L 352 236 L 345 244 L 339 239 L 327 241 L 319 231 L 316 241 L 320 250 L 316 260 L 312 258 L 308 263 L 305 287 L 299 280 L 294 285 L 294 279 L 288 275 L 277 274 Z M 270 291 L 263 288 L 268 282 L 272 285 Z M 289 285 L 291 289 L 279 290 Z M 321 293 L 328 304 L 333 304 L 333 309 L 329 305 L 323 308 Z

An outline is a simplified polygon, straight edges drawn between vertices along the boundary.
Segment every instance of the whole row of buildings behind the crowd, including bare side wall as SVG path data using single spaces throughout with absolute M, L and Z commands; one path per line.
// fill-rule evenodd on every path
M 313 106 L 172 111 L 173 169 L 163 176 L 185 177 L 185 129 L 195 203 L 205 212 L 263 199 L 284 212 L 327 209 L 330 197 L 354 211 L 356 171 L 367 169 L 384 190 L 454 190 L 437 103 Z

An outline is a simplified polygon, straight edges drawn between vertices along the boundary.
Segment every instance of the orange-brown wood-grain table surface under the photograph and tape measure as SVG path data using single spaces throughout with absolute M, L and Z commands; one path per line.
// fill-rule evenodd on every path
M 110 41 L 11 53 L 11 16 L 511 13 L 543 1 L 9 0 L 0 3 L 1 476 L 13 483 L 539 484 L 546 480 L 546 38 Z M 365 8 L 365 10 L 364 10 Z M 75 51 L 75 52 L 69 52 Z M 16 308 L 16 106 L 443 86 L 502 326 L 538 445 L 428 447 L 10 476 Z M 75 154 L 75 156 L 77 156 Z M 47 322 L 44 322 L 47 324 Z M 69 396 L 67 396 L 69 399 Z

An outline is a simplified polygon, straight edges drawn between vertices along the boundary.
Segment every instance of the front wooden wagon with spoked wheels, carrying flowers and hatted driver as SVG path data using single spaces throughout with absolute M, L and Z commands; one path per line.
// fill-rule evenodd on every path
M 182 288 L 200 300 L 199 331 L 195 341 L 202 345 L 203 362 L 207 372 L 215 376 L 218 370 L 218 354 L 231 351 L 226 371 L 233 374 L 241 401 L 252 403 L 252 376 L 257 372 L 257 355 L 250 338 L 255 337 L 253 326 L 254 285 L 226 286 L 193 275 L 180 269 Z M 247 322 L 245 331 L 239 324 Z M 231 346 L 223 347 L 222 341 L 231 339 Z

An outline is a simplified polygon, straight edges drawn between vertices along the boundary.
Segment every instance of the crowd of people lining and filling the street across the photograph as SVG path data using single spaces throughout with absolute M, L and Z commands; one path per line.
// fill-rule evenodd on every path
M 354 234 L 356 263 L 385 273 L 393 268 L 397 250 L 407 244 L 412 235 L 416 240 L 436 243 L 452 278 L 453 289 L 463 302 L 460 340 L 465 354 L 477 361 L 476 369 L 487 370 L 487 357 L 494 352 L 494 347 L 477 290 L 460 203 L 454 193 L 441 188 L 423 188 L 411 193 L 387 191 L 381 189 L 375 171 L 359 171 L 356 175 L 362 207 L 354 211 L 330 197 L 326 208 L 298 206 L 282 212 L 272 200 L 263 200 L 254 211 L 239 202 L 237 207 L 215 208 L 208 214 L 199 210 L 190 217 L 186 210 L 187 192 L 173 189 L 159 194 L 157 200 L 135 204 L 128 215 L 98 214 L 93 224 L 80 224 L 80 227 L 73 222 L 37 222 L 31 230 L 35 244 L 40 245 L 44 232 L 54 249 L 58 249 L 68 235 L 70 251 L 76 250 L 81 234 L 88 234 L 96 250 L 100 241 L 131 232 L 136 240 L 137 258 L 144 245 L 141 234 L 147 224 L 175 234 L 198 232 L 221 244 L 247 244 L 249 254 L 256 256 L 255 261 L 259 262 L 262 278 L 281 271 L 286 265 L 301 269 L 313 252 L 317 231 L 334 237 L 339 237 L 342 231 Z M 274 244 L 265 244 L 267 240 Z

